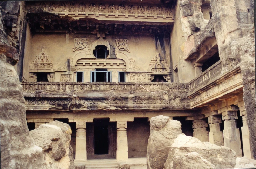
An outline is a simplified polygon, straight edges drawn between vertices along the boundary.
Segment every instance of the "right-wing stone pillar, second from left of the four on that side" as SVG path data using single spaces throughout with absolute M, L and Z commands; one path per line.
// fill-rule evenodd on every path
M 223 132 L 221 131 L 221 116 L 212 115 L 208 117 L 208 123 L 210 126 L 209 141 L 212 144 L 218 146 L 224 146 Z

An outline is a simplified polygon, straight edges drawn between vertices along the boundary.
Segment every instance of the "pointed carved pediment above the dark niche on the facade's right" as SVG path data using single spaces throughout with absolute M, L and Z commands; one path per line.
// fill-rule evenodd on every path
M 155 74 L 167 74 L 170 72 L 170 68 L 165 59 L 161 59 L 159 53 L 150 61 L 148 72 Z

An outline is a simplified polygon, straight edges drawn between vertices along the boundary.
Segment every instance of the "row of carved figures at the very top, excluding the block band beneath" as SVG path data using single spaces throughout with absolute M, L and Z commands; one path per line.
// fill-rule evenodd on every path
M 165 9 L 162 6 L 148 6 L 144 7 L 143 5 L 135 6 L 124 4 L 110 4 L 108 7 L 104 3 L 100 3 L 96 5 L 95 3 L 91 3 L 86 5 L 81 2 L 76 4 L 74 2 L 65 3 L 60 2 L 60 4 L 55 4 L 55 2 L 51 2 L 50 4 L 45 4 L 42 2 L 41 6 L 45 6 L 45 11 L 50 12 L 99 12 L 99 13 L 121 13 L 121 14 L 149 14 L 149 15 L 172 15 L 170 9 L 166 7 Z

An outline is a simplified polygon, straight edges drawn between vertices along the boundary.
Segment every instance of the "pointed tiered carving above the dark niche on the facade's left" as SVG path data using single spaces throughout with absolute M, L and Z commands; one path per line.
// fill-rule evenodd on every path
M 49 60 L 49 56 L 42 49 L 41 53 L 36 56 L 30 65 L 30 70 L 51 70 L 52 66 L 52 61 Z

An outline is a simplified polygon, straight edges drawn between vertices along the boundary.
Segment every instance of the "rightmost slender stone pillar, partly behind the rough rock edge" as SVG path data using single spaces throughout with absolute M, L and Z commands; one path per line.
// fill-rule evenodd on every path
M 251 145 L 250 145 L 250 132 L 247 125 L 247 116 L 246 111 L 244 109 L 244 101 L 241 101 L 238 103 L 238 107 L 240 110 L 240 116 L 243 118 L 243 127 L 241 127 L 242 130 L 242 140 L 243 140 L 243 151 L 244 156 L 246 156 L 249 159 L 254 159 L 251 151 Z

